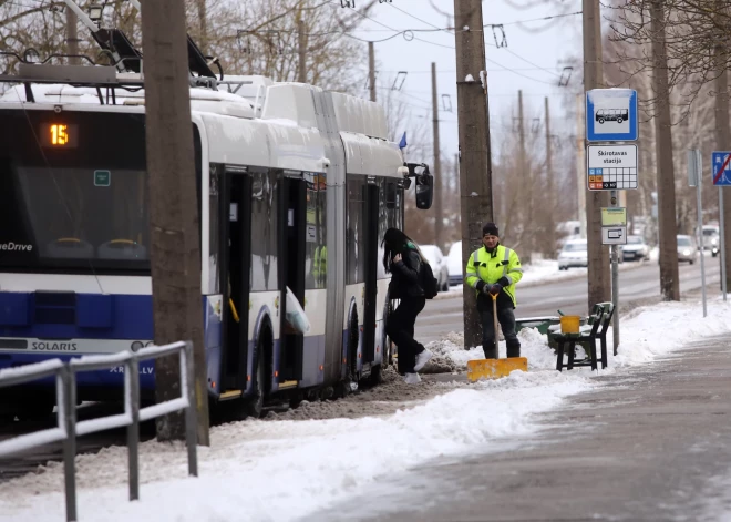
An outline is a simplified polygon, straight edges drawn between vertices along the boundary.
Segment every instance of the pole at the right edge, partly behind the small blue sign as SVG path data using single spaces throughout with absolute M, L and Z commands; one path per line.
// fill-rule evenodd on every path
M 722 1 L 717 0 L 717 9 L 722 9 Z M 731 150 L 731 127 L 729 126 L 729 71 L 725 66 L 723 42 L 719 42 L 714 50 L 714 60 L 719 70 L 715 79 L 715 151 Z M 731 203 L 725 201 L 728 188 L 719 187 L 719 206 L 723 207 L 723 215 L 719 213 L 719 222 L 723 221 L 723 243 L 725 262 L 725 287 L 731 287 Z

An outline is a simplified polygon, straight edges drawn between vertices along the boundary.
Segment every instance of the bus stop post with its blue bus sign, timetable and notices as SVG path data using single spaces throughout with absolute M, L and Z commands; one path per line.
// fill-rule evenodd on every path
M 619 206 L 619 190 L 637 188 L 637 91 L 593 89 L 586 92 L 586 139 L 615 142 L 587 145 L 587 187 L 611 191 L 609 208 L 601 208 L 601 243 L 611 245 L 611 319 L 614 352 L 619 347 L 619 247 L 627 244 L 627 208 Z M 620 143 L 616 143 L 620 142 Z

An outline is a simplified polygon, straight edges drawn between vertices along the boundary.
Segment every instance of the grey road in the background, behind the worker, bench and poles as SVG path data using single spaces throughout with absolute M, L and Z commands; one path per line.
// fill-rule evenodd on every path
M 720 268 L 718 258 L 706 258 L 707 285 L 718 287 Z M 686 293 L 701 286 L 700 265 L 680 265 L 680 291 Z M 453 298 L 429 301 L 416 320 L 416 339 L 421 342 L 437 340 L 449 331 L 462 331 L 462 294 L 453 291 Z M 660 296 L 660 267 L 657 263 L 637 264 L 619 273 L 619 303 Z M 516 317 L 555 316 L 564 314 L 587 315 L 586 276 L 559 279 L 539 286 L 521 288 L 517 285 L 518 307 Z

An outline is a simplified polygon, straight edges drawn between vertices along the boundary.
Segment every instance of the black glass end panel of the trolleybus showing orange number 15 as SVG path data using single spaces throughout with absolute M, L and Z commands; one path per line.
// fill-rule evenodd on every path
M 1 110 L 0 270 L 150 270 L 144 115 Z

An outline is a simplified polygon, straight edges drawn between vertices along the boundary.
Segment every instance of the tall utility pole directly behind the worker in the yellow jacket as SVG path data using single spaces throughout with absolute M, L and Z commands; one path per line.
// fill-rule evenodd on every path
M 481 0 L 454 0 L 463 267 L 472 253 L 482 246 L 482 226 L 493 221 L 483 24 Z M 482 328 L 475 293 L 466 289 L 462 295 L 464 346 L 480 346 Z

